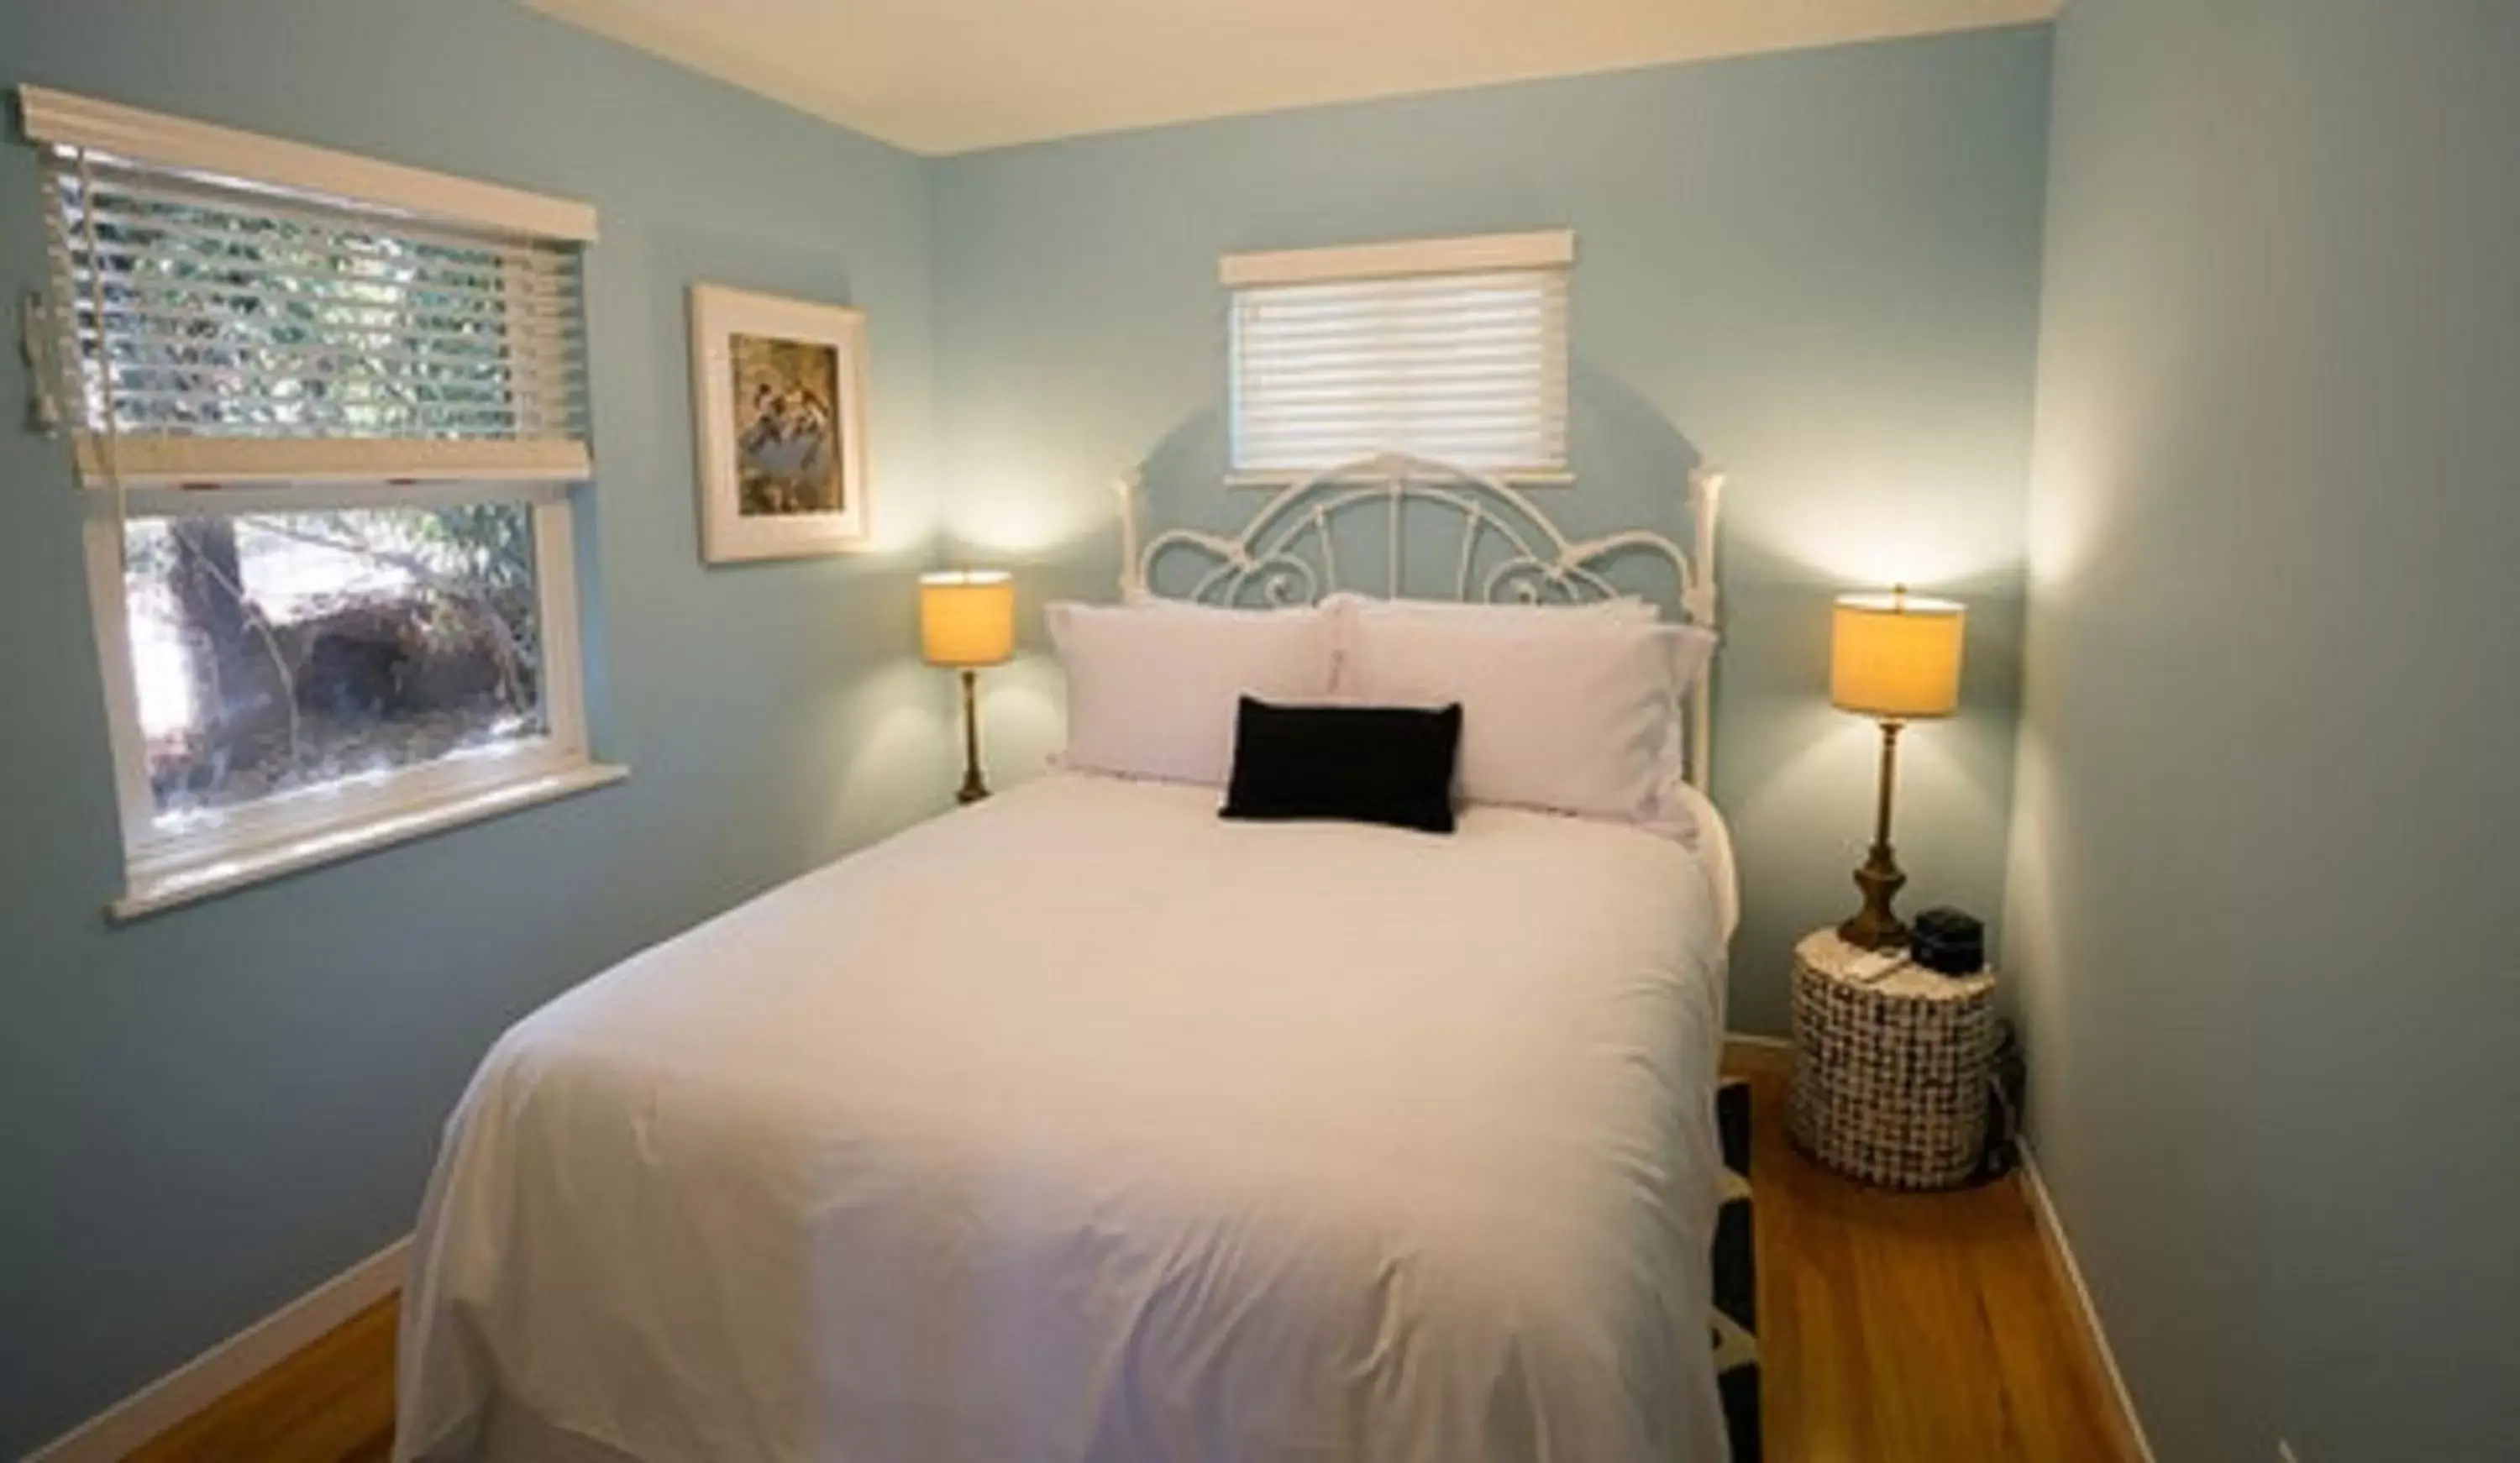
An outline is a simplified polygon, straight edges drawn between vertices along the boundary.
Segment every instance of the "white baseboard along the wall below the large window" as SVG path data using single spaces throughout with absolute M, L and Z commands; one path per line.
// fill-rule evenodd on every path
M 277 1367 L 403 1284 L 411 1236 L 318 1284 L 199 1357 L 25 1455 L 25 1463 L 108 1463 Z

